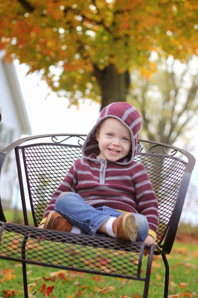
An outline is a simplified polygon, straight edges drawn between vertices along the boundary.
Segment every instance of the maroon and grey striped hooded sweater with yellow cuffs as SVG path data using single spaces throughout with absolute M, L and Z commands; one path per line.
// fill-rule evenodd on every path
M 116 162 L 96 158 L 100 150 L 95 131 L 100 122 L 108 117 L 118 119 L 131 134 L 131 151 Z M 83 157 L 74 162 L 53 194 L 40 224 L 44 223 L 48 213 L 54 210 L 60 193 L 76 192 L 95 208 L 107 206 L 146 216 L 149 235 L 156 238 L 159 218 L 157 199 L 144 166 L 134 160 L 141 122 L 139 112 L 129 103 L 111 103 L 103 108 L 84 142 Z

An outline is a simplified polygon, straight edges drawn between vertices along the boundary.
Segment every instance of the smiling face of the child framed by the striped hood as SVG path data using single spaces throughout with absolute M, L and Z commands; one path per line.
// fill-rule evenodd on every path
M 108 159 L 111 162 L 127 156 L 131 150 L 131 134 L 122 122 L 107 118 L 96 129 L 96 139 L 100 148 L 97 159 Z

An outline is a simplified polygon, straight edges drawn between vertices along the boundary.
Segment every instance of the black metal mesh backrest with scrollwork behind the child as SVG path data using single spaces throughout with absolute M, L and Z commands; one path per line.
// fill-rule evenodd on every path
M 35 226 L 38 226 L 43 218 L 43 212 L 52 194 L 64 179 L 67 171 L 75 159 L 81 157 L 81 147 L 85 136 L 64 136 L 65 138 L 61 135 L 64 140 L 60 142 L 54 135 L 50 135 L 51 139 L 48 142 L 44 142 L 39 136 L 39 139 L 34 139 L 34 143 L 28 144 L 29 138 L 27 138 L 25 145 L 18 145 L 15 148 L 23 209 L 26 212 L 25 176 Z M 49 138 L 49 135 L 47 137 Z M 73 141 L 74 138 L 77 140 L 76 143 Z M 149 146 L 150 149 L 143 149 Z M 162 247 L 171 220 L 173 221 L 173 211 L 174 217 L 177 217 L 176 225 L 178 226 L 195 162 L 194 157 L 179 148 L 140 140 L 136 161 L 144 164 L 158 199 L 160 219 L 156 242 Z M 184 175 L 185 173 L 187 175 Z M 177 208 L 175 208 L 176 203 Z M 25 217 L 25 224 L 27 224 Z M 176 230 L 170 237 L 173 240 Z M 170 244 L 168 249 L 171 247 Z

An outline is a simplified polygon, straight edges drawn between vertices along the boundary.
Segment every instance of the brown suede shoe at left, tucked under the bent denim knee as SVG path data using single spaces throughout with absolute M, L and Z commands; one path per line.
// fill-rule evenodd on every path
M 72 224 L 56 211 L 51 211 L 44 224 L 44 229 L 71 232 Z

